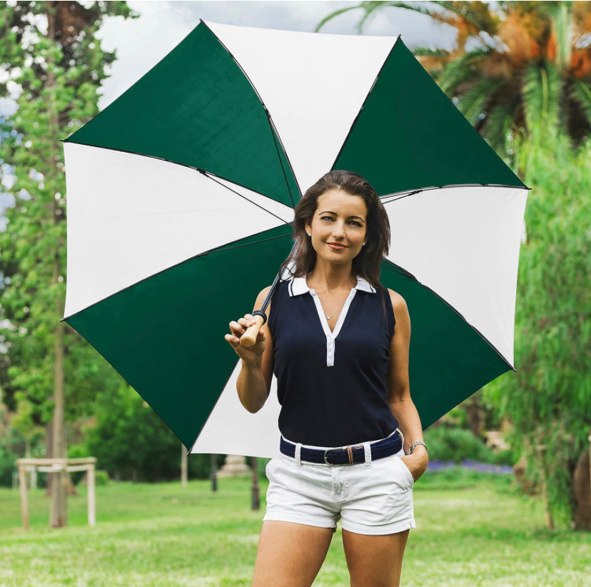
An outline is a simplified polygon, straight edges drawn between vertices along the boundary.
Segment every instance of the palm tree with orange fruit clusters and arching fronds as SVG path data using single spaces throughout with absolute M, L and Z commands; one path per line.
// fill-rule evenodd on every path
M 415 56 L 463 115 L 504 151 L 510 131 L 540 141 L 564 131 L 577 145 L 591 131 L 591 2 L 362 1 L 329 14 L 418 11 L 453 26 L 451 50 L 417 48 Z M 537 131 L 535 129 L 541 129 Z

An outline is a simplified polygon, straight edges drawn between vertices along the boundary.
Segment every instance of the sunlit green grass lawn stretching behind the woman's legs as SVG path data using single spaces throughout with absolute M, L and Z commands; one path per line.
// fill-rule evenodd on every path
M 261 484 L 262 495 L 266 484 Z M 31 529 L 19 492 L 0 489 L 0 586 L 248 586 L 261 511 L 248 479 L 96 488 L 97 523 L 86 526 L 86 491 L 69 498 L 69 526 L 49 529 L 49 499 L 29 492 Z M 538 499 L 506 476 L 428 472 L 416 486 L 403 566 L 405 587 L 588 587 L 591 536 L 544 529 Z M 347 586 L 338 531 L 315 586 Z M 368 586 L 370 587 L 370 586 Z

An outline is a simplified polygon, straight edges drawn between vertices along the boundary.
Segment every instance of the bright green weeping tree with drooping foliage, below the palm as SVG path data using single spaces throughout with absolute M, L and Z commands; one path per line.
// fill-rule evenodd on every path
M 588 446 L 591 141 L 575 153 L 565 136 L 520 139 L 514 148 L 532 186 L 517 280 L 517 373 L 489 384 L 485 397 L 510 418 L 512 444 L 527 459 L 526 476 L 542 484 L 553 526 L 576 514 L 573 471 Z

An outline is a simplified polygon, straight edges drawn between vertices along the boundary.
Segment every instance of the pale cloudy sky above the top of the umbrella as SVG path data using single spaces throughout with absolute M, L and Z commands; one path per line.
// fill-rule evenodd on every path
M 330 12 L 355 6 L 356 1 L 128 1 L 140 16 L 104 21 L 98 36 L 103 49 L 117 51 L 111 77 L 103 82 L 100 108 L 105 108 L 143 76 L 193 30 L 199 19 L 223 24 L 258 26 L 265 29 L 314 31 Z M 356 34 L 355 25 L 363 15 L 352 10 L 336 17 L 323 31 Z M 402 35 L 404 43 L 415 46 L 445 46 L 452 43 L 454 29 L 436 24 L 423 14 L 399 8 L 385 8 L 368 21 L 365 34 Z

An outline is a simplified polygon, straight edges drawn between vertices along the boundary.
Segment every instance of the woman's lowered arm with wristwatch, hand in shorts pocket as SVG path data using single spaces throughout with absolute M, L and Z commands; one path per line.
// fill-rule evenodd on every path
M 394 336 L 390 341 L 390 365 L 388 367 L 388 404 L 398 420 L 400 432 L 404 435 L 404 449 L 408 449 L 413 442 L 423 440 L 423 427 L 420 418 L 410 397 L 410 384 L 408 381 L 408 349 L 410 347 L 410 316 L 404 298 L 392 290 L 390 300 L 394 308 L 396 325 Z M 403 461 L 415 481 L 425 472 L 429 457 L 425 446 L 418 444 L 413 454 L 403 456 Z

